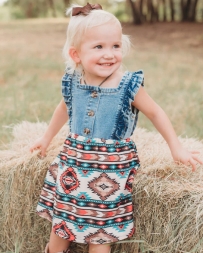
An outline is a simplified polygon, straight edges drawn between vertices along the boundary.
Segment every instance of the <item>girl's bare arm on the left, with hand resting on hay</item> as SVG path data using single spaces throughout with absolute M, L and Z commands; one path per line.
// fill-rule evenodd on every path
M 67 107 L 62 99 L 57 105 L 49 126 L 42 137 L 36 140 L 36 142 L 30 147 L 30 151 L 33 152 L 35 149 L 41 150 L 41 156 L 44 157 L 46 154 L 47 147 L 49 146 L 53 137 L 59 132 L 62 126 L 68 120 Z

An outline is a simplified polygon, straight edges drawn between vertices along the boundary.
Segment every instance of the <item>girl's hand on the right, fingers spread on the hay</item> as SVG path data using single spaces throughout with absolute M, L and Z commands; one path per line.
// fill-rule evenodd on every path
M 192 171 L 196 170 L 196 165 L 197 162 L 200 164 L 203 164 L 203 160 L 201 160 L 200 158 L 198 158 L 198 151 L 188 151 L 185 148 L 179 148 L 178 150 L 176 150 L 175 152 L 172 152 L 172 156 L 174 161 L 177 164 L 185 164 L 187 166 L 192 166 Z

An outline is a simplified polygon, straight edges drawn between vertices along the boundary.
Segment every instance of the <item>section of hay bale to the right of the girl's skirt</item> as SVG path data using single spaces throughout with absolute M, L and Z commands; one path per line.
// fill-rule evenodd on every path
M 190 150 L 199 150 L 203 158 L 202 142 L 180 141 Z M 143 248 L 203 252 L 203 166 L 192 172 L 191 167 L 176 165 L 159 134 L 139 129 L 137 143 L 142 168 L 135 177 L 134 199 L 137 238 L 147 243 Z

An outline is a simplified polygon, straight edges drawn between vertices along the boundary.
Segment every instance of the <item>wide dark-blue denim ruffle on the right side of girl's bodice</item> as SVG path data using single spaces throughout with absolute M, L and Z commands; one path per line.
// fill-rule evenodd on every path
M 132 106 L 132 102 L 141 86 L 144 86 L 144 74 L 142 70 L 139 70 L 132 73 L 124 87 L 120 110 L 112 134 L 113 139 L 128 138 L 133 134 L 139 110 Z

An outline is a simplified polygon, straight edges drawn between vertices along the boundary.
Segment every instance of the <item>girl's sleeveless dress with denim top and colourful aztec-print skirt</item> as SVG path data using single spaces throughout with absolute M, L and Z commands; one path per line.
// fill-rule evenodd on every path
M 80 84 L 77 73 L 63 76 L 70 133 L 37 206 L 58 236 L 105 244 L 133 235 L 132 183 L 140 165 L 130 139 L 139 111 L 131 103 L 143 80 L 142 71 L 126 71 L 117 88 L 102 88 Z

